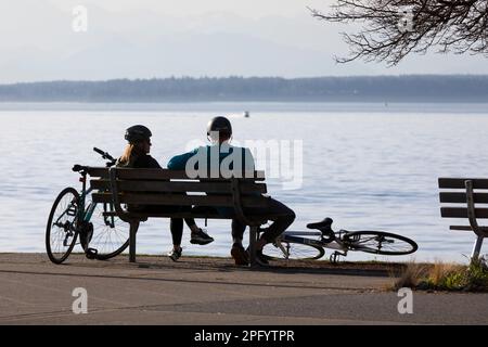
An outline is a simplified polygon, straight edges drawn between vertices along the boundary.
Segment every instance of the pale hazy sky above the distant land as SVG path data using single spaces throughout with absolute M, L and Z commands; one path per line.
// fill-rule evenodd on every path
M 16 0 L 0 3 L 0 82 L 168 76 L 488 74 L 487 59 L 427 54 L 394 68 L 346 55 L 332 0 Z M 88 10 L 75 33 L 73 9 Z

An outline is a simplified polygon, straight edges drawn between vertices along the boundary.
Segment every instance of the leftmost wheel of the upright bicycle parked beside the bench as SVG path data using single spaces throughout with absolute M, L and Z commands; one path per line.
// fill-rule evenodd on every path
M 46 228 L 46 250 L 54 264 L 62 264 L 73 250 L 78 236 L 79 194 L 64 189 L 54 201 Z

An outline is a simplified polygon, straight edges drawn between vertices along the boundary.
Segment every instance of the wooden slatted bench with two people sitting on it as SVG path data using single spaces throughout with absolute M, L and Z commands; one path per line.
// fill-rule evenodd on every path
M 254 178 L 210 178 L 194 179 L 184 171 L 168 169 L 134 169 L 88 167 L 92 200 L 95 203 L 111 203 L 114 213 L 130 223 L 129 259 L 136 261 L 136 234 L 141 221 L 147 218 L 205 218 L 232 219 L 222 217 L 213 207 L 233 209 L 235 218 L 249 227 L 251 266 L 256 265 L 255 241 L 259 226 L 267 222 L 266 215 L 247 216 L 245 208 L 267 208 L 268 198 L 265 175 L 255 171 Z M 187 206 L 189 211 L 145 213 L 126 208 L 127 205 L 174 205 Z M 230 233 L 229 233 L 230 236 Z

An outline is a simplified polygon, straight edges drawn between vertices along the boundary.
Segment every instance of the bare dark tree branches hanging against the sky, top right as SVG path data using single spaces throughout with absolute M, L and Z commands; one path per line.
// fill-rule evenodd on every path
M 398 64 L 408 54 L 471 53 L 488 57 L 488 0 L 337 0 L 331 13 L 310 9 L 313 17 L 362 23 L 358 33 L 342 33 L 349 56 Z

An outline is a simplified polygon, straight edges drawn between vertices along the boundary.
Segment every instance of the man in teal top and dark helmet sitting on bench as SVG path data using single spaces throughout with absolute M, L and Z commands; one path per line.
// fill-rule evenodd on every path
M 232 146 L 229 142 L 232 138 L 232 126 L 226 117 L 215 117 L 207 125 L 207 138 L 210 145 L 197 147 L 191 152 L 183 153 L 172 157 L 168 163 L 168 168 L 172 170 L 190 170 L 201 169 L 200 164 L 209 168 L 210 172 L 222 174 L 221 164 L 226 162 L 230 155 L 242 160 L 229 162 L 229 169 L 239 172 L 253 172 L 255 170 L 255 163 L 253 155 L 248 149 Z M 216 155 L 216 153 L 218 153 Z M 195 160 L 196 158 L 196 160 Z M 202 163 L 203 162 L 203 163 Z M 195 165 L 196 164 L 196 165 Z M 204 170 L 208 172 L 208 170 Z M 224 217 L 234 217 L 235 214 L 232 208 L 224 208 L 216 206 L 218 213 Z M 267 228 L 261 237 L 256 243 L 256 260 L 261 264 L 268 264 L 262 256 L 262 247 L 270 242 L 273 242 L 277 236 L 283 233 L 295 220 L 295 213 L 286 207 L 284 204 L 268 197 L 268 208 L 244 208 L 248 215 L 269 215 L 273 223 Z M 244 250 L 242 240 L 246 226 L 242 224 L 237 218 L 232 219 L 232 239 L 233 244 L 231 248 L 231 256 L 236 265 L 248 265 L 248 253 Z

